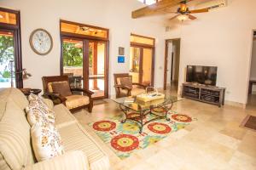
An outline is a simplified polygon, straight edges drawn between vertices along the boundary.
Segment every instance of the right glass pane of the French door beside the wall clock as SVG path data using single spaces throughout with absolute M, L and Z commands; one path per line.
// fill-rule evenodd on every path
M 89 89 L 93 98 L 105 96 L 105 42 L 89 42 Z

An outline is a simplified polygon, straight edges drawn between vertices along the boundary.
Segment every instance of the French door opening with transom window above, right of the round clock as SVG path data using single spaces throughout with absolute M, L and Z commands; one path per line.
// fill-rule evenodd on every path
M 61 20 L 61 47 L 61 75 L 70 86 L 108 98 L 108 30 Z

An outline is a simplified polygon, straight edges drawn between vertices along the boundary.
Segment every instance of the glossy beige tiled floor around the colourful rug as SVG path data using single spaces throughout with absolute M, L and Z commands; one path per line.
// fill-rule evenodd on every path
M 121 114 L 117 105 L 107 101 L 96 105 L 91 114 L 79 111 L 75 116 L 88 128 L 88 122 Z M 256 116 L 256 109 L 243 110 L 229 105 L 218 108 L 189 99 L 179 101 L 173 109 L 198 121 L 123 161 L 92 131 L 90 133 L 102 144 L 113 170 L 256 169 L 256 133 L 240 127 L 247 114 Z

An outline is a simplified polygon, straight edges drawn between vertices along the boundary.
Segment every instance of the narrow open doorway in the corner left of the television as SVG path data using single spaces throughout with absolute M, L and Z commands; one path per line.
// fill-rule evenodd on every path
M 166 40 L 164 90 L 177 94 L 180 63 L 180 39 Z

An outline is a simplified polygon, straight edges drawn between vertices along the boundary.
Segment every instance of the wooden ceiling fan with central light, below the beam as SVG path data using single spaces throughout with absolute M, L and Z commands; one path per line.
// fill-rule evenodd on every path
M 207 13 L 209 12 L 209 8 L 201 8 L 201 9 L 195 9 L 195 10 L 189 10 L 187 6 L 187 1 L 184 0 L 180 3 L 180 7 L 177 8 L 177 12 L 175 16 L 173 16 L 170 20 L 174 20 L 177 18 L 177 20 L 195 20 L 196 17 L 193 16 L 192 14 L 196 13 Z

